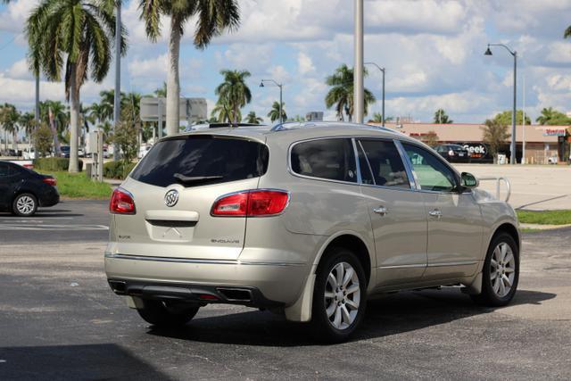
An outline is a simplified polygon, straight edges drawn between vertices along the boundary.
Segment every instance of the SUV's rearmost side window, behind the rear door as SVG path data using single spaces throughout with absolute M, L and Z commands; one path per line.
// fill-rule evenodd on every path
M 292 148 L 292 170 L 303 176 L 357 182 L 352 141 L 347 138 L 311 140 Z

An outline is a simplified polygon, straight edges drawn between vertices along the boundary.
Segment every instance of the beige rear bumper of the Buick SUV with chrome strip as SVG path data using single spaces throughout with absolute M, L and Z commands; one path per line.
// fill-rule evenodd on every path
M 260 308 L 294 304 L 309 271 L 305 263 L 192 260 L 105 253 L 108 279 L 125 284 L 123 291 L 114 289 L 117 294 L 167 299 L 171 291 L 178 294 L 174 296 L 189 301 L 197 300 L 201 293 L 213 294 L 218 300 L 201 302 L 229 302 Z M 224 289 L 250 290 L 251 300 L 231 300 Z

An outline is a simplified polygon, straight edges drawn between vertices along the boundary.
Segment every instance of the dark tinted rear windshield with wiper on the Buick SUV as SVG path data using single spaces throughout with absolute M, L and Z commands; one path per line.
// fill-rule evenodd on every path
M 211 135 L 178 137 L 153 145 L 131 178 L 153 186 L 203 186 L 258 178 L 268 169 L 266 145 Z

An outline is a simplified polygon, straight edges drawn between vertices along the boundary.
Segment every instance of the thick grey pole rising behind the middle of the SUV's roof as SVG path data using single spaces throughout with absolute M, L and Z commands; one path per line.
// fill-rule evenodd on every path
M 353 78 L 353 115 L 363 122 L 365 95 L 363 94 L 363 0 L 355 0 L 355 66 Z

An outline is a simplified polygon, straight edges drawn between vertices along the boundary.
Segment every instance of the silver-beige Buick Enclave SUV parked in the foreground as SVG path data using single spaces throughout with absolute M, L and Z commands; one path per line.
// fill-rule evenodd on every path
M 192 131 L 154 145 L 113 193 L 105 270 L 153 325 L 236 303 L 329 342 L 374 294 L 457 285 L 501 306 L 517 288 L 517 217 L 477 185 L 385 128 Z

